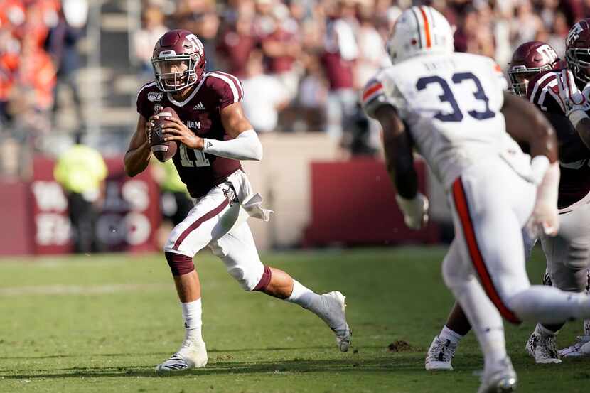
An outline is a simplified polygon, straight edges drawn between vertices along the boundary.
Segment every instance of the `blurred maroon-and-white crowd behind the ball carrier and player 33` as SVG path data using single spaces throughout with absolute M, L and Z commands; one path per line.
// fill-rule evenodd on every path
M 590 0 L 148 0 L 134 51 L 149 78 L 154 43 L 186 28 L 204 43 L 208 70 L 240 77 L 257 131 L 323 130 L 353 154 L 375 154 L 379 131 L 360 111 L 358 92 L 389 64 L 385 41 L 408 6 L 429 4 L 456 26 L 456 50 L 505 67 L 524 41 L 564 52 L 569 26 Z

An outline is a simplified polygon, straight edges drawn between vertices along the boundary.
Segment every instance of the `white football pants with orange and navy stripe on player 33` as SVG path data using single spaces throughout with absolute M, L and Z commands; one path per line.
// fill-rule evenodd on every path
M 466 169 L 449 191 L 456 235 L 444 281 L 473 326 L 486 366 L 506 355 L 502 316 L 512 323 L 590 317 L 586 295 L 530 285 L 521 228 L 535 192 L 500 157 Z

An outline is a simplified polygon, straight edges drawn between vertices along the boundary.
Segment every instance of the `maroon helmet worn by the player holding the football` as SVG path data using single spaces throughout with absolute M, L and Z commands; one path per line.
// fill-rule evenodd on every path
M 188 30 L 171 30 L 161 36 L 151 57 L 156 85 L 177 92 L 194 85 L 205 72 L 203 43 Z

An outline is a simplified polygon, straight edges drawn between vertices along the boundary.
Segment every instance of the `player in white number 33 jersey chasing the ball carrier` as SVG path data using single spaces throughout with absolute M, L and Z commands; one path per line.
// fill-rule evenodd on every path
M 409 227 L 427 221 L 414 146 L 444 185 L 453 212 L 456 237 L 443 276 L 483 351 L 478 392 L 511 392 L 516 375 L 502 317 L 559 323 L 590 316 L 587 296 L 531 286 L 525 270 L 525 223 L 547 235 L 559 230 L 554 130 L 530 102 L 505 92 L 493 60 L 454 53 L 449 23 L 431 7 L 404 11 L 387 49 L 393 65 L 368 83 L 363 104 L 382 125 L 397 203 Z M 515 139 L 530 145 L 532 159 Z

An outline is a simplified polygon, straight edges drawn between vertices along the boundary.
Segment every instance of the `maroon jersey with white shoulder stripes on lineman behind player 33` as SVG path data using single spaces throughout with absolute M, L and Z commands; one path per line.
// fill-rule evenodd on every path
M 562 149 L 561 146 L 568 144 L 584 146 L 584 142 L 581 141 L 574 126 L 565 117 L 564 105 L 562 100 L 559 99 L 557 78 L 562 77 L 561 72 L 562 70 L 541 72 L 530 80 L 527 87 L 527 97 L 530 99 L 530 102 L 548 114 L 547 119 L 554 124 L 560 150 Z M 567 119 L 567 122 L 559 122 L 558 126 L 549 114 L 560 115 Z M 564 123 L 568 126 L 564 126 Z M 567 164 L 562 163 L 561 172 L 559 200 L 557 203 L 560 209 L 567 208 L 572 203 L 576 203 L 590 193 L 590 151 L 588 151 L 586 158 L 580 161 Z

